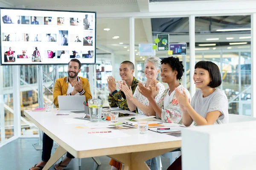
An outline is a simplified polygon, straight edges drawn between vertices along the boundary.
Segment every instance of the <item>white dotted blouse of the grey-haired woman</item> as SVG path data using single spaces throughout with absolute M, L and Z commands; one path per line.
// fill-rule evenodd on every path
M 146 82 L 142 82 L 142 84 L 145 86 Z M 138 87 L 139 86 L 137 86 L 137 88 L 134 91 L 134 98 L 137 99 L 143 105 L 148 106 L 149 105 L 148 99 L 145 96 L 143 96 L 142 94 L 140 94 L 140 92 L 138 91 Z M 155 97 L 156 102 L 159 101 L 161 95 L 165 91 L 164 85 L 162 83 L 158 82 L 157 87 L 159 88 L 159 92 L 158 92 L 157 96 Z M 143 111 L 141 111 L 139 108 L 138 108 L 138 113 L 148 116 L 148 113 L 147 114 L 143 113 Z

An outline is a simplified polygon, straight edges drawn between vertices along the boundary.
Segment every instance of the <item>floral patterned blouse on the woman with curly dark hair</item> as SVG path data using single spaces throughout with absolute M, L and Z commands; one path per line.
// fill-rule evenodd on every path
M 182 91 L 182 89 L 185 89 L 182 85 L 179 85 L 177 88 L 180 89 L 180 91 Z M 170 88 L 166 89 L 159 102 L 158 105 L 160 106 L 160 108 L 162 108 L 162 113 L 161 113 L 161 119 L 163 122 L 167 122 L 167 123 L 177 123 L 177 124 L 181 124 L 182 123 L 182 111 L 178 105 L 178 101 L 175 95 L 175 91 L 172 91 L 170 96 L 166 96 L 169 95 L 169 90 Z M 189 96 L 189 99 L 191 100 L 189 91 L 187 89 L 185 89 L 187 96 Z M 169 98 L 169 104 L 165 105 L 165 98 Z M 160 117 L 156 114 L 157 118 L 160 119 Z

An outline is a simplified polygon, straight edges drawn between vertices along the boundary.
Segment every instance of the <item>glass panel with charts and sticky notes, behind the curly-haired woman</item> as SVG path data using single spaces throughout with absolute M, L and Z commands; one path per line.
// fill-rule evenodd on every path
M 169 43 L 186 43 L 187 55 L 169 55 L 167 51 L 157 51 L 157 57 L 179 57 L 183 61 L 186 68 L 180 82 L 186 87 L 189 87 L 189 18 L 174 17 L 174 18 L 139 18 L 135 19 L 135 63 L 137 68 L 137 79 L 146 81 L 144 75 L 145 59 L 148 56 L 140 56 L 139 44 L 155 43 L 157 34 L 169 34 Z M 161 82 L 160 73 L 158 80 Z M 166 88 L 168 85 L 163 83 Z

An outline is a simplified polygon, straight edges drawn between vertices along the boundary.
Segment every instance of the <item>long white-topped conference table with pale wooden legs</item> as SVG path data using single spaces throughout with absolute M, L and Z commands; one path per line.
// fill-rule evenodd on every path
M 48 170 L 67 151 L 76 158 L 109 156 L 122 162 L 125 165 L 122 167 L 124 170 L 137 170 L 138 167 L 140 167 L 140 170 L 149 170 L 149 167 L 145 164 L 146 160 L 181 147 L 181 137 L 150 130 L 146 134 L 139 134 L 137 128 L 122 130 L 121 133 L 125 133 L 125 135 L 121 135 L 121 137 L 105 138 L 99 134 L 89 134 L 88 132 L 110 131 L 109 128 L 86 129 L 78 128 L 78 126 L 86 127 L 85 124 L 65 124 L 64 118 L 84 116 L 84 113 L 56 116 L 56 113 L 52 112 L 26 110 L 24 114 L 59 144 L 43 170 Z M 125 117 L 119 117 L 118 122 L 127 122 L 124 119 Z M 166 127 L 177 126 L 173 123 L 164 123 L 163 125 Z

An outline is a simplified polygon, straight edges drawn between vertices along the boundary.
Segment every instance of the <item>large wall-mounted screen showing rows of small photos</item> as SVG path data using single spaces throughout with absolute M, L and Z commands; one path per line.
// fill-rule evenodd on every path
M 1 65 L 96 62 L 96 13 L 0 8 Z

